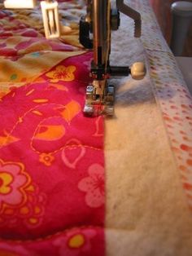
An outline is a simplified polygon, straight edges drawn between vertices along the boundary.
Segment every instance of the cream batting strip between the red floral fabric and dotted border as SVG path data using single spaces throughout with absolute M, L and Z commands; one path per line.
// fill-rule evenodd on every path
M 147 17 L 151 22 L 146 12 Z M 148 73 L 140 82 L 130 77 L 111 82 L 117 100 L 116 117 L 105 123 L 107 256 L 192 255 L 191 211 L 156 101 L 148 55 L 131 28 L 132 21 L 121 15 L 120 30 L 112 38 L 112 62 L 146 60 Z M 164 42 L 161 47 L 168 50 Z

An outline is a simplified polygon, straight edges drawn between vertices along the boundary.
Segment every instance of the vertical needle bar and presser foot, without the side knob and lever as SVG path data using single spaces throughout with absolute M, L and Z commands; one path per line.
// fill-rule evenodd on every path
M 99 11 L 98 11 L 99 10 Z M 90 34 L 93 34 L 93 39 Z M 87 1 L 87 14 L 80 21 L 80 42 L 94 50 L 90 67 L 93 82 L 86 88 L 84 113 L 98 115 L 113 113 L 114 87 L 108 86 L 111 46 L 111 7 L 109 1 Z

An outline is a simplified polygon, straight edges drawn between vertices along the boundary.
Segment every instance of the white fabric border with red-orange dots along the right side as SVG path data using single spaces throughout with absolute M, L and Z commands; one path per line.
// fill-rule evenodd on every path
M 159 24 L 148 0 L 130 2 L 142 15 L 142 43 L 151 85 L 192 210 L 192 97 L 172 52 L 159 33 Z

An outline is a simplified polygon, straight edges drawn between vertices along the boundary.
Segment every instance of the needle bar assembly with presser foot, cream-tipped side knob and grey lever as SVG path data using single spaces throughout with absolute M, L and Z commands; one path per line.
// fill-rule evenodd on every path
M 111 9 L 110 0 L 87 0 L 87 14 L 80 21 L 80 42 L 94 51 L 90 71 L 93 82 L 86 89 L 84 113 L 87 116 L 113 115 L 115 89 L 108 85 L 109 77 L 133 73 L 134 79 L 142 79 L 146 73 L 142 63 L 131 68 L 110 66 L 111 30 L 120 26 L 120 11 L 135 20 L 135 37 L 141 35 L 140 14 L 126 6 L 124 0 L 116 0 L 116 7 Z

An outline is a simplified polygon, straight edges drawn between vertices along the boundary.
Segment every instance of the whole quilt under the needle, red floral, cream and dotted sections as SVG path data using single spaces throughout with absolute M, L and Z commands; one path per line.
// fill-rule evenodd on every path
M 0 9 L 0 255 L 191 255 L 192 99 L 147 0 L 142 38 L 121 15 L 115 117 L 84 117 L 92 51 L 84 1 L 59 1 L 70 32 L 46 40 L 39 6 Z M 125 36 L 126 35 L 126 36 Z

